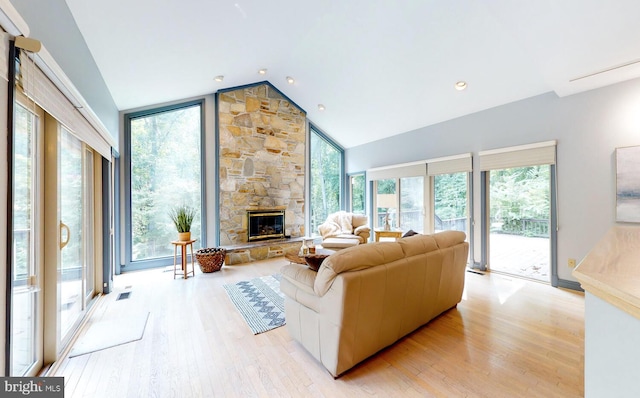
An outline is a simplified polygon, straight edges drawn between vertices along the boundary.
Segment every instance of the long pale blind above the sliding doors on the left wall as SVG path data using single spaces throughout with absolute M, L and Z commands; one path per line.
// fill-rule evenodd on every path
M 111 145 L 40 70 L 32 57 L 33 55 L 27 55 L 24 51 L 20 52 L 20 80 L 25 95 L 56 118 L 78 139 L 106 159 L 111 159 Z

